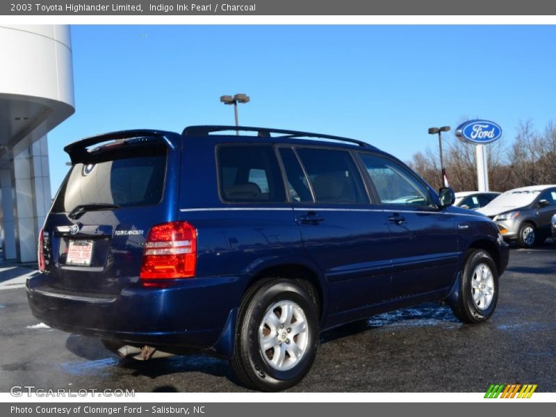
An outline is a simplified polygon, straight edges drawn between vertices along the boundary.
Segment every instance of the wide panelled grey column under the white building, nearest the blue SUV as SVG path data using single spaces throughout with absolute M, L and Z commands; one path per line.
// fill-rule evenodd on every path
M 17 260 L 33 262 L 51 201 L 46 136 L 13 158 L 13 189 Z

